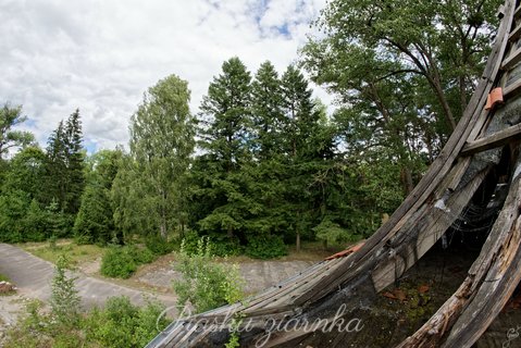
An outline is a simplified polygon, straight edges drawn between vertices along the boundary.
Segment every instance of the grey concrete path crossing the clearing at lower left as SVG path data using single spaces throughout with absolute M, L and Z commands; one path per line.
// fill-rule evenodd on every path
M 47 301 L 51 296 L 50 285 L 54 265 L 20 248 L 0 244 L 0 273 L 7 275 L 18 288 L 18 294 L 24 297 Z M 127 296 L 135 304 L 142 304 L 144 296 L 156 298 L 166 307 L 175 304 L 173 296 L 152 295 L 80 273 L 73 275 L 77 277 L 76 289 L 82 297 L 82 304 L 86 308 L 101 307 L 112 296 Z

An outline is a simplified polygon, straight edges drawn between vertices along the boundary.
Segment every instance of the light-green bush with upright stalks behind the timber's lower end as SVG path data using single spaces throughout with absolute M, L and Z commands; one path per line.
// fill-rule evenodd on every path
M 195 254 L 186 253 L 182 244 L 175 270 L 182 274 L 173 283 L 177 303 L 190 303 L 197 313 L 239 301 L 244 296 L 238 269 L 216 263 L 208 238 L 199 239 Z

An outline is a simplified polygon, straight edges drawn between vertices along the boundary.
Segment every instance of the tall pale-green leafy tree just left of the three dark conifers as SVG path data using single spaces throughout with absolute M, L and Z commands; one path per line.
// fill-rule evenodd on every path
M 194 151 L 187 82 L 168 76 L 148 89 L 131 120 L 131 153 L 112 187 L 117 226 L 127 233 L 183 229 L 186 172 Z M 132 189 L 129 189 L 132 188 Z M 133 219 L 137 212 L 138 219 Z

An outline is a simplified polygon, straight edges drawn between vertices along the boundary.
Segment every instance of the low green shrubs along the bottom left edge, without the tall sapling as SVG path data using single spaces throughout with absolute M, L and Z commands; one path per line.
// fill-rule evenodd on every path
M 32 301 L 20 324 L 8 332 L 3 347 L 144 347 L 169 324 L 161 316 L 163 309 L 151 300 L 138 308 L 127 297 L 112 297 L 103 309 L 95 308 L 70 325 L 57 322 L 40 302 Z

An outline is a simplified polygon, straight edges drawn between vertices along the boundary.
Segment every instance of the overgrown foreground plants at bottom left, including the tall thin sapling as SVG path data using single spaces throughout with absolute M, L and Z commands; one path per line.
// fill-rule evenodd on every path
M 60 258 L 50 311 L 39 301 L 28 302 L 25 318 L 8 332 L 4 347 L 140 348 L 168 325 L 168 319 L 161 315 L 164 308 L 151 300 L 138 308 L 127 297 L 113 297 L 103 309 L 82 312 L 74 278 L 66 270 L 66 258 Z

